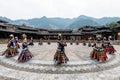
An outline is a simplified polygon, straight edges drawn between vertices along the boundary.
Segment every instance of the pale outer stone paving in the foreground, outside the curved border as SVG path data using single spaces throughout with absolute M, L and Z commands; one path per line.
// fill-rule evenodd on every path
M 84 74 L 49 74 L 31 73 L 22 70 L 14 70 L 0 65 L 0 76 L 14 80 L 120 80 L 120 66 L 92 73 Z

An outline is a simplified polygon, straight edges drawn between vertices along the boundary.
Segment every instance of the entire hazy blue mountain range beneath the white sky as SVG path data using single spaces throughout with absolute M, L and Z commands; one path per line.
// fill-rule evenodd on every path
M 28 20 L 19 19 L 11 20 L 6 17 L 0 16 L 0 19 L 5 20 L 11 24 L 21 25 L 25 23 L 28 26 L 44 29 L 77 29 L 82 26 L 101 26 L 106 25 L 111 22 L 120 21 L 120 17 L 103 17 L 103 18 L 93 18 L 85 15 L 78 16 L 76 18 L 47 18 L 45 16 L 41 18 L 32 18 Z

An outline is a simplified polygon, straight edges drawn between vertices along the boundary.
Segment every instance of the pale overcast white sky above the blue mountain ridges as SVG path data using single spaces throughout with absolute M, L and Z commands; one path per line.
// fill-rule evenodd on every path
M 120 17 L 120 0 L 0 0 L 0 16 L 16 19 Z

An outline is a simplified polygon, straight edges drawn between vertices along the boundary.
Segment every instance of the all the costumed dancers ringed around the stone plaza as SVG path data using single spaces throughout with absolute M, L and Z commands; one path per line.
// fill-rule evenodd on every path
M 7 49 L 2 53 L 2 55 L 5 55 L 7 58 L 14 57 L 19 54 L 19 40 L 18 37 L 14 37 L 14 35 L 9 36 L 9 42 L 7 44 Z M 86 44 L 85 41 L 83 41 L 83 46 L 89 46 L 93 47 L 93 50 L 90 52 L 90 57 L 93 60 L 97 60 L 99 62 L 105 62 L 108 60 L 107 54 L 114 54 L 116 50 L 114 49 L 113 45 L 111 44 L 111 38 L 107 39 L 104 37 L 102 39 L 101 36 L 97 36 L 96 40 L 94 42 L 91 42 L 89 40 Z M 62 35 L 58 34 L 58 48 L 56 50 L 56 53 L 54 55 L 54 62 L 56 64 L 63 64 L 67 63 L 69 61 L 67 55 L 65 54 L 65 48 L 67 46 L 66 41 L 63 40 Z M 50 39 L 48 39 L 48 45 L 51 44 Z M 70 44 L 73 44 L 73 40 L 70 40 Z M 30 41 L 27 40 L 27 35 L 22 35 L 22 51 L 19 54 L 18 62 L 26 62 L 30 60 L 33 57 L 33 54 L 29 51 L 28 46 L 34 46 L 33 38 L 30 38 Z M 43 45 L 43 40 L 40 38 L 38 45 Z M 79 41 L 76 40 L 76 45 L 79 45 Z

